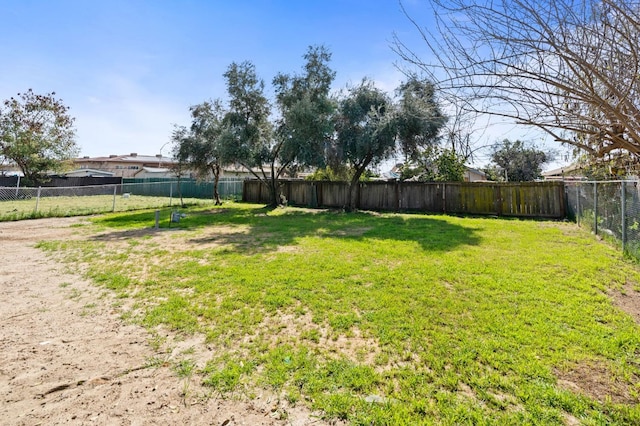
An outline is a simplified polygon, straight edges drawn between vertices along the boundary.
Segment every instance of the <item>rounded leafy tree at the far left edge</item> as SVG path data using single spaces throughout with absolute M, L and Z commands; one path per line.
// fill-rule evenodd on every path
M 0 156 L 15 162 L 28 182 L 43 181 L 78 154 L 73 122 L 54 92 L 18 93 L 0 107 Z

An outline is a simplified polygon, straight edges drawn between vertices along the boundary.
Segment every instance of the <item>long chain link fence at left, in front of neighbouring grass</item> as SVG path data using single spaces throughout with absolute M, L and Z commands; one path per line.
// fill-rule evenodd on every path
M 0 187 L 0 221 L 49 216 L 79 216 L 148 208 L 179 207 L 210 202 L 213 186 L 193 188 L 193 182 L 164 181 L 71 187 Z M 200 185 L 200 183 L 198 184 Z M 218 188 L 225 199 L 242 197 L 242 181 Z

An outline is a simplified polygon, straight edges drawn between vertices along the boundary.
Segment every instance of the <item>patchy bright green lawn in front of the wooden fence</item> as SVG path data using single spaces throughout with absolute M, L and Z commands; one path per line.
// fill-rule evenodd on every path
M 206 335 L 195 374 L 222 395 L 363 425 L 640 423 L 640 327 L 611 296 L 640 271 L 574 224 L 233 203 L 166 232 L 93 222 L 42 246 L 128 317 Z

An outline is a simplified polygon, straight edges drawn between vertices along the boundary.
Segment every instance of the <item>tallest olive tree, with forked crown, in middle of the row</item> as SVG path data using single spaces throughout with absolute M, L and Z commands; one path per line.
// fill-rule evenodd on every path
M 270 121 L 264 82 L 251 62 L 233 63 L 224 74 L 229 93 L 223 155 L 242 166 L 269 190 L 270 204 L 283 201 L 279 179 L 287 171 L 320 166 L 329 142 L 334 104 L 329 96 L 335 73 L 324 47 L 310 47 L 300 75 L 278 74 L 273 81 L 279 118 Z

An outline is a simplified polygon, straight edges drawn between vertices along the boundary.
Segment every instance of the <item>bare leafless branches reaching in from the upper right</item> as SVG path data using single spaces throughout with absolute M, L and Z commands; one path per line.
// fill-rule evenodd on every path
M 640 156 L 640 7 L 626 0 L 428 0 L 428 59 L 397 53 L 464 111 L 535 126 L 595 158 Z M 411 17 L 409 17 L 411 19 Z

